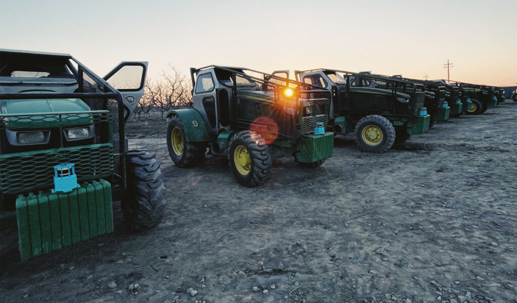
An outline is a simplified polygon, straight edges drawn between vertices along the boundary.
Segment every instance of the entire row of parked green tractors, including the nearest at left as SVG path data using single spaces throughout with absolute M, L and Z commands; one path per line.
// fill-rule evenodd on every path
M 130 230 L 156 226 L 165 188 L 155 153 L 129 150 L 125 124 L 145 87 L 147 62 L 100 77 L 68 54 L 0 50 L 0 227 L 18 227 L 26 260 L 114 230 L 112 201 Z M 317 167 L 337 134 L 384 152 L 438 121 L 503 102 L 495 87 L 340 70 L 266 74 L 190 70 L 192 105 L 171 110 L 166 142 L 178 167 L 227 157 L 257 186 L 271 158 Z

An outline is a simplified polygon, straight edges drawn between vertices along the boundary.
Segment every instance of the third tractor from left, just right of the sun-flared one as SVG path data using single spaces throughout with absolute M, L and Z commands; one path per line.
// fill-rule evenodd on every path
M 298 81 L 326 87 L 332 92 L 329 130 L 355 132 L 366 152 L 385 152 L 394 142 L 429 130 L 421 84 L 397 78 L 333 69 L 295 71 Z

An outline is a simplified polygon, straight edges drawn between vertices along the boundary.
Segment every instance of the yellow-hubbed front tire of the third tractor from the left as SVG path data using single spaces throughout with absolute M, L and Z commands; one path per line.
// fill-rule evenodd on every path
M 364 152 L 382 153 L 395 142 L 393 124 L 383 116 L 370 115 L 361 118 L 354 132 L 357 146 Z

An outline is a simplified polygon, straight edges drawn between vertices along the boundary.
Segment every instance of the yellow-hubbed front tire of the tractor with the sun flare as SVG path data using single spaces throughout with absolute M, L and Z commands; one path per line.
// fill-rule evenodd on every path
M 241 131 L 232 137 L 228 160 L 235 179 L 247 187 L 261 185 L 271 173 L 271 152 L 266 140 L 252 131 Z

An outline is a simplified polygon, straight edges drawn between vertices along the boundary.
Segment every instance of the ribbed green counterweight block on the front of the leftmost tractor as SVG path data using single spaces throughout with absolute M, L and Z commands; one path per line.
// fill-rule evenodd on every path
M 20 195 L 16 216 L 22 260 L 113 232 L 111 184 L 101 179 L 70 193 Z

